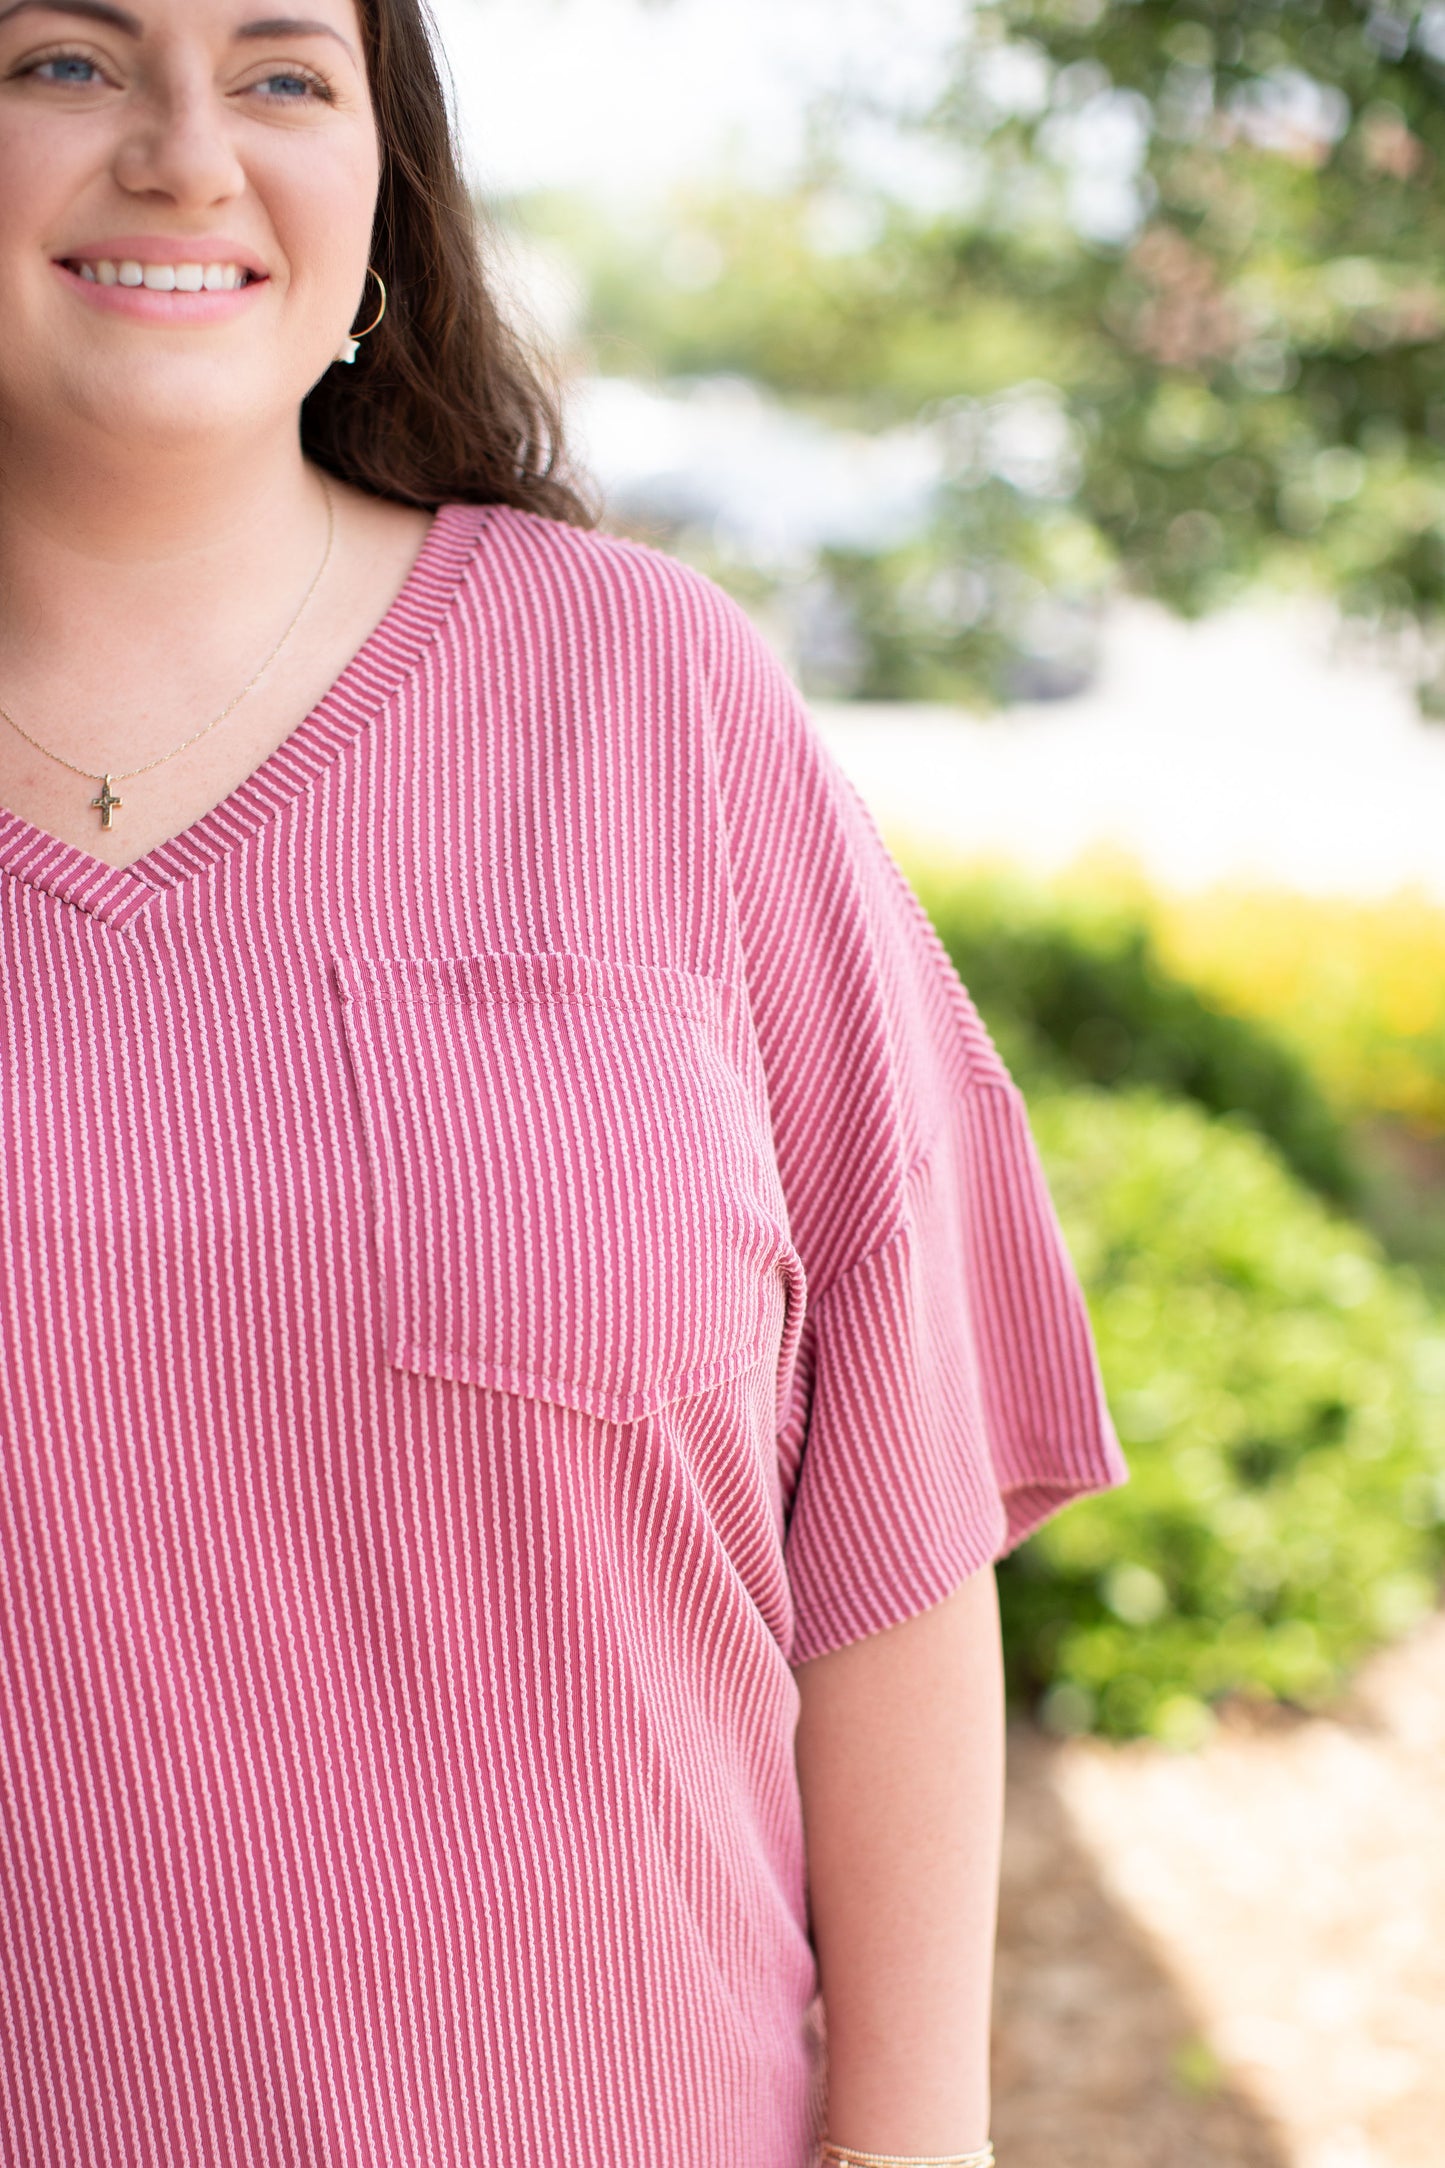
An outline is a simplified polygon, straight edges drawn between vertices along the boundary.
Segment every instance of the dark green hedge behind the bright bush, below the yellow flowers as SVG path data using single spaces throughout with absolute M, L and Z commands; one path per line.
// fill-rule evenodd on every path
M 912 872 L 953 965 L 1025 1088 L 1150 1086 L 1241 1114 L 1339 1203 L 1358 1197 L 1341 1119 L 1304 1060 L 1263 1023 L 1174 978 L 1150 930 L 1072 911 L 1018 882 Z

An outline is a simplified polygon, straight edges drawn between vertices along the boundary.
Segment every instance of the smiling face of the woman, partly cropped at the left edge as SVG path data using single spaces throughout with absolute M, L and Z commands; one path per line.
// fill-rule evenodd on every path
M 295 436 L 379 180 L 353 0 L 299 4 L 0 0 L 0 464 Z

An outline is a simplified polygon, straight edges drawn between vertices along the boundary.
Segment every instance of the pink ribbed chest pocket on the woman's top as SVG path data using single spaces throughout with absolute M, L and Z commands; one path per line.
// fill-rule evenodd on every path
M 390 1364 L 630 1422 L 780 1344 L 802 1268 L 721 982 L 572 954 L 331 967 Z

